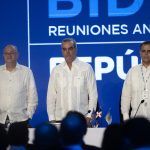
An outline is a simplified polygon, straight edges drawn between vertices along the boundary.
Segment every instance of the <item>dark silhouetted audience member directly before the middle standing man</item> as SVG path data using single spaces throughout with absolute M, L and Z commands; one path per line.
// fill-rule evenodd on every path
M 99 149 L 95 146 L 86 145 L 83 137 L 87 132 L 87 121 L 83 114 L 77 111 L 69 111 L 62 120 L 60 127 L 60 136 L 63 143 L 63 149 Z

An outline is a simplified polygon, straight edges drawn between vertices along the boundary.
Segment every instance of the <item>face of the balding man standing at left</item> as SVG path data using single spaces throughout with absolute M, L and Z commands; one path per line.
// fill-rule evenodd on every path
M 16 63 L 18 59 L 18 53 L 12 47 L 6 47 L 4 49 L 4 60 L 5 63 Z

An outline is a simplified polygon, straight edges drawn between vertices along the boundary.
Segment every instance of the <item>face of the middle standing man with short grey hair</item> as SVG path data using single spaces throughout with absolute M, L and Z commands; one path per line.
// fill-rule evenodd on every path
M 76 48 L 73 46 L 73 42 L 63 42 L 62 43 L 62 54 L 67 62 L 71 64 L 76 58 Z

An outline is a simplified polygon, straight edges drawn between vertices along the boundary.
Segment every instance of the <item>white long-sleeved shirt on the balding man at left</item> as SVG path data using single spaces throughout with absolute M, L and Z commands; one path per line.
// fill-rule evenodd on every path
M 32 71 L 16 65 L 9 72 L 0 66 L 0 123 L 25 121 L 32 118 L 38 104 L 38 96 Z

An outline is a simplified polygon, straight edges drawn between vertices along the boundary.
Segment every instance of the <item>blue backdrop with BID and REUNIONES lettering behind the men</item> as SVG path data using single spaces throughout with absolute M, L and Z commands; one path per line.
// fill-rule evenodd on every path
M 130 67 L 140 63 L 139 44 L 150 39 L 149 0 L 1 0 L 0 64 L 6 44 L 17 45 L 19 63 L 36 80 L 39 105 L 31 121 L 47 121 L 46 94 L 52 68 L 61 62 L 60 42 L 73 37 L 78 56 L 95 71 L 99 104 L 121 121 L 120 96 Z

